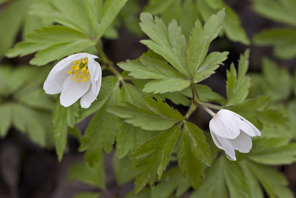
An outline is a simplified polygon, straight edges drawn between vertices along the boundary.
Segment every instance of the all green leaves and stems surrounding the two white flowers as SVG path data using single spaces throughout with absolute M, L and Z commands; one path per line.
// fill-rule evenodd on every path
M 74 136 L 85 162 L 73 165 L 67 180 L 96 186 L 103 193 L 104 152 L 113 151 L 118 185 L 134 180 L 134 191 L 126 198 L 180 197 L 191 187 L 191 198 L 263 198 L 263 190 L 269 197 L 294 197 L 284 175 L 269 165 L 296 161 L 296 71 L 291 75 L 262 58 L 262 73 L 248 74 L 247 49 L 226 72 L 226 98 L 199 82 L 214 74 L 229 54 L 209 53 L 217 36 L 245 45 L 272 45 L 276 57 L 295 58 L 295 1 L 252 0 L 255 12 L 289 25 L 259 32 L 252 40 L 222 0 L 149 0 L 144 12 L 135 0 L 0 3 L 5 5 L 0 13 L 0 27 L 5 29 L 0 32 L 0 56 L 6 56 L 0 65 L 1 138 L 13 127 L 42 147 L 54 146 L 61 161 L 68 135 Z M 140 41 L 149 50 L 117 67 L 104 54 L 101 39 L 117 39 L 121 25 L 149 37 Z M 20 31 L 22 41 L 14 45 Z M 78 52 L 98 55 L 102 70 L 112 73 L 102 77 L 97 100 L 87 109 L 79 102 L 61 106 L 58 97 L 42 89 L 54 63 Z M 32 53 L 33 66 L 10 62 Z M 182 115 L 165 100 L 188 111 Z M 253 138 L 250 153 L 237 153 L 232 162 L 207 129 L 188 121 L 199 105 L 236 112 L 262 136 Z M 76 124 L 92 114 L 81 132 Z M 82 192 L 75 198 L 103 193 Z

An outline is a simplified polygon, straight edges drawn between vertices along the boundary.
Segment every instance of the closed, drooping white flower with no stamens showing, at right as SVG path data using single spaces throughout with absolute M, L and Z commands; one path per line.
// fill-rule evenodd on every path
M 251 122 L 227 109 L 218 111 L 209 126 L 215 145 L 223 149 L 230 160 L 237 160 L 234 150 L 241 153 L 250 152 L 251 137 L 261 135 Z

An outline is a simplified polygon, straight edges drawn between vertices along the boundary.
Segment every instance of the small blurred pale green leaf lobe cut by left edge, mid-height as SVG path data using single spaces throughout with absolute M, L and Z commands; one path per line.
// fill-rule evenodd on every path
M 13 106 L 8 104 L 0 104 L 0 137 L 4 138 L 12 124 Z

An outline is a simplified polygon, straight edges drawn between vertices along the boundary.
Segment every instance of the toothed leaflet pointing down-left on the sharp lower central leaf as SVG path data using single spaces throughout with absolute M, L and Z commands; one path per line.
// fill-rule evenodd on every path
M 180 128 L 180 124 L 175 125 L 132 151 L 129 157 L 134 158 L 137 174 L 134 182 L 135 193 L 141 191 L 147 183 L 154 186 L 156 174 L 159 179 L 161 178 L 178 139 Z

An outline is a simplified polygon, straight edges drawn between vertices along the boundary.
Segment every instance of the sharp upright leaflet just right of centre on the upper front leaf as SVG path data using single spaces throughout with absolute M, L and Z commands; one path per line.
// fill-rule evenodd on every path
M 212 15 L 205 22 L 204 27 L 199 20 L 195 22 L 189 39 L 187 49 L 188 67 L 192 77 L 195 77 L 198 67 L 201 65 L 212 42 L 219 34 L 223 25 L 221 25 L 225 16 L 224 9 L 217 15 Z

